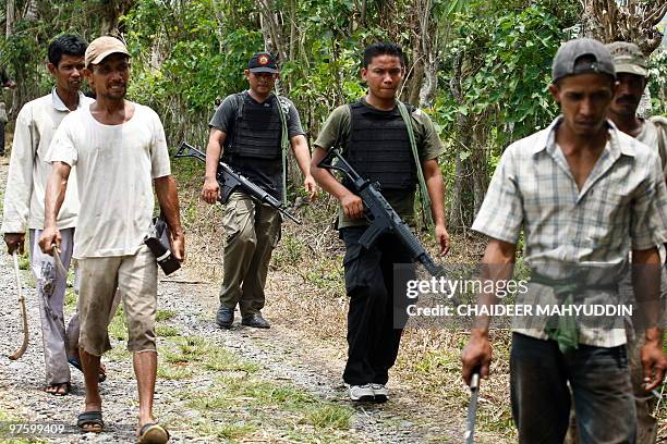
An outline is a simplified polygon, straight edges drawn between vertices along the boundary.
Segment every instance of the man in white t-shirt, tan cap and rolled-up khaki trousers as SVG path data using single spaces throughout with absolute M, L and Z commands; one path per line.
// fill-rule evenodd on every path
M 140 442 L 166 443 L 169 433 L 153 419 L 157 370 L 155 314 L 157 263 L 144 245 L 154 212 L 153 185 L 171 231 L 174 257 L 184 257 L 179 199 L 171 175 L 165 130 L 148 107 L 125 100 L 130 53 L 113 37 L 99 37 L 86 50 L 86 77 L 97 101 L 78 110 L 58 128 L 47 160 L 53 171 L 46 192 L 46 252 L 60 244 L 56 214 L 68 176 L 76 165 L 82 211 L 74 235 L 78 260 L 81 361 L 86 380 L 85 411 L 77 425 L 99 433 L 104 422 L 97 384 L 99 357 L 111 348 L 108 319 L 118 286 L 128 321 L 140 395 Z

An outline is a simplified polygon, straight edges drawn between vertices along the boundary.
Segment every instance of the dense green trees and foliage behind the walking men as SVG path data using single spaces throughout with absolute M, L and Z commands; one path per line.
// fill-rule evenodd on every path
M 582 12 L 577 0 L 3 0 L 3 11 L 8 2 L 15 21 L 0 61 L 20 84 L 14 114 L 49 88 L 50 38 L 110 30 L 133 54 L 131 98 L 158 111 L 173 146 L 204 143 L 216 99 L 245 87 L 255 51 L 279 57 L 280 91 L 313 139 L 336 106 L 364 94 L 362 48 L 401 44 L 401 97 L 426 109 L 449 148 L 442 168 L 458 227 L 470 224 L 504 147 L 556 115 L 550 60 Z M 653 59 L 654 112 L 665 111 L 665 58 Z

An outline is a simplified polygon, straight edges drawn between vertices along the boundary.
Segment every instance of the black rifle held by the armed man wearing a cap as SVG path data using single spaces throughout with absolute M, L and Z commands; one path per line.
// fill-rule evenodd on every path
M 177 151 L 174 158 L 195 158 L 199 159 L 203 162 L 206 162 L 206 155 L 186 141 L 182 141 L 179 150 Z M 293 222 L 301 224 L 301 222 L 290 214 L 276 199 L 274 196 L 259 188 L 257 185 L 242 176 L 241 174 L 234 172 L 227 163 L 220 161 L 218 163 L 218 172 L 216 173 L 216 178 L 218 180 L 218 184 L 220 185 L 220 203 L 227 203 L 229 201 L 229 197 L 235 190 L 240 190 L 258 201 L 259 203 L 266 203 L 271 208 L 280 211 L 280 213 L 284 214 L 287 218 L 292 220 Z

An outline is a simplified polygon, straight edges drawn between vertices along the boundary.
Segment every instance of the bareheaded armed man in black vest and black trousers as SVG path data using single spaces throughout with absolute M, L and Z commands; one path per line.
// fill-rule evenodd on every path
M 361 75 L 368 85 L 367 95 L 329 115 L 315 141 L 311 168 L 317 182 L 341 206 L 338 227 L 345 243 L 345 287 L 350 296 L 349 350 L 343 380 L 350 386 L 350 399 L 385 402 L 388 372 L 398 355 L 404 322 L 393 319 L 395 304 L 400 306 L 400 301 L 393 300 L 393 266 L 411 263 L 412 257 L 391 233 L 380 236 L 368 249 L 362 247 L 359 240 L 367 226 L 362 199 L 345 182 L 339 183 L 317 164 L 328 150 L 342 148 L 352 168 L 361 176 L 379 183 L 384 197 L 408 223 L 413 222 L 414 192 L 421 169 L 430 197 L 427 210 L 433 214 L 436 239 L 444 255 L 449 249 L 449 235 L 445 229 L 442 177 L 437 157 L 445 148 L 426 114 L 397 101 L 397 91 L 405 75 L 405 59 L 398 45 L 368 46 L 364 50 Z

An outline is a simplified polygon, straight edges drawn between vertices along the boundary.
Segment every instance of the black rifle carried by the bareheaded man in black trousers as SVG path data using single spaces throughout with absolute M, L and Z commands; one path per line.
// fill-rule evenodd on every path
M 333 163 L 335 161 L 336 163 Z M 366 207 L 366 218 L 371 223 L 371 226 L 366 229 L 359 239 L 359 243 L 364 248 L 368 248 L 383 233 L 390 232 L 396 234 L 410 250 L 412 260 L 423 264 L 434 276 L 441 276 L 445 274 L 442 268 L 434 262 L 410 227 L 401 220 L 393 208 L 391 208 L 389 202 L 379 193 L 378 184 L 372 183 L 360 176 L 352 165 L 350 165 L 350 163 L 348 163 L 348 161 L 335 149 L 330 150 L 327 157 L 325 157 L 317 166 L 343 173 L 351 182 L 351 192 L 363 200 L 364 207 Z

